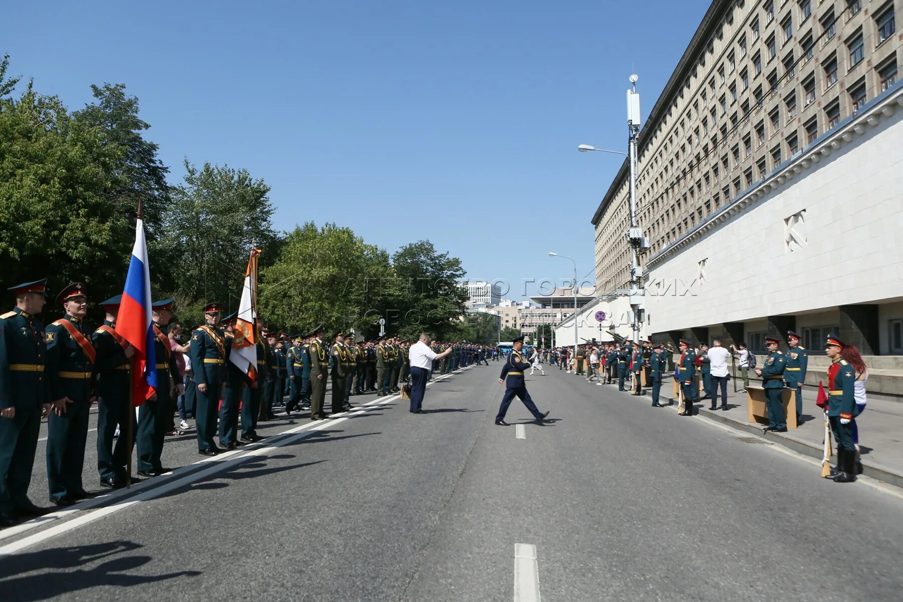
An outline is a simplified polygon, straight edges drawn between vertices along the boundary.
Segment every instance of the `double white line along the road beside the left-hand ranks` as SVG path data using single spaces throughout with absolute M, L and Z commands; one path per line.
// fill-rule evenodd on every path
M 460 369 L 456 370 L 455 372 L 451 372 L 447 375 L 439 375 L 439 376 L 433 378 L 432 383 L 427 383 L 426 385 L 429 386 L 430 384 L 433 384 L 434 382 L 438 382 L 438 381 L 448 377 L 449 375 L 456 374 L 458 372 L 461 372 L 462 370 L 467 370 L 468 368 L 470 368 L 470 366 L 460 368 Z M 97 511 L 90 512 L 88 514 L 83 514 L 81 516 L 73 518 L 70 521 L 65 521 L 65 522 L 58 524 L 56 526 L 53 526 L 49 529 L 45 529 L 44 531 L 42 531 L 40 533 L 34 533 L 33 535 L 30 535 L 28 537 L 23 537 L 23 539 L 18 540 L 17 542 L 9 543 L 9 544 L 5 545 L 4 547 L 0 547 L 0 557 L 6 556 L 9 554 L 13 554 L 17 551 L 22 551 L 23 549 L 25 549 L 29 546 L 32 546 L 35 543 L 49 540 L 52 537 L 60 535 L 61 533 L 67 533 L 71 530 L 77 529 L 84 524 L 93 523 L 94 521 L 98 520 L 99 518 L 103 518 L 104 516 L 113 514 L 115 512 L 118 512 L 119 510 L 123 510 L 131 505 L 134 505 L 137 502 L 153 499 L 154 497 L 157 497 L 158 495 L 162 495 L 168 491 L 171 491 L 172 489 L 176 489 L 178 487 L 191 484 L 202 478 L 208 477 L 209 475 L 213 475 L 221 470 L 224 470 L 226 468 L 230 468 L 236 464 L 239 464 L 245 458 L 259 456 L 259 455 L 265 453 L 266 451 L 269 451 L 270 449 L 277 449 L 277 448 L 280 448 L 280 447 L 286 445 L 289 442 L 296 441 L 296 440 L 302 440 L 305 437 L 309 437 L 310 435 L 312 435 L 313 432 L 322 431 L 324 429 L 330 428 L 332 425 L 337 424 L 339 422 L 350 420 L 354 416 L 354 414 L 356 414 L 358 412 L 361 412 L 361 413 L 368 412 L 369 410 L 375 409 L 378 406 L 389 403 L 393 400 L 396 400 L 397 398 L 398 398 L 398 395 L 388 395 L 386 397 L 380 397 L 371 402 L 362 403 L 361 405 L 358 405 L 356 408 L 353 408 L 350 412 L 341 412 L 338 414 L 333 414 L 335 416 L 335 418 L 330 418 L 329 420 L 326 420 L 326 421 L 316 421 L 316 422 L 310 422 L 308 424 L 303 424 L 301 426 L 294 427 L 293 429 L 289 429 L 288 431 L 276 433 L 275 435 L 271 435 L 270 437 L 267 438 L 267 440 L 277 439 L 280 437 L 282 437 L 282 439 L 275 440 L 275 441 L 268 442 L 268 443 L 264 443 L 261 441 L 259 443 L 253 443 L 251 445 L 245 446 L 244 448 L 241 448 L 241 449 L 233 449 L 231 451 L 221 453 L 215 457 L 204 458 L 202 460 L 193 462 L 192 464 L 189 464 L 182 468 L 177 468 L 176 470 L 174 470 L 170 473 L 167 473 L 166 475 L 163 475 L 161 477 L 155 477 L 153 479 L 146 479 L 146 480 L 142 481 L 141 483 L 139 483 L 138 485 L 133 486 L 131 489 L 118 489 L 115 492 L 111 492 L 107 495 L 99 495 L 98 497 L 85 500 L 83 502 L 80 502 L 78 505 L 70 506 L 69 508 L 66 508 L 65 510 L 53 512 L 51 514 L 46 514 L 39 518 L 28 521 L 27 523 L 18 524 L 14 527 L 9 527 L 7 529 L 4 529 L 3 531 L 0 531 L 0 540 L 6 539 L 9 537 L 13 537 L 14 535 L 18 535 L 19 533 L 30 531 L 30 530 L 34 529 L 35 527 L 45 526 L 46 524 L 51 523 L 56 520 L 59 520 L 61 518 L 69 517 L 72 514 L 78 514 L 79 511 L 88 510 L 94 506 L 101 505 L 105 502 L 109 502 L 111 500 L 116 500 L 116 498 L 125 497 L 126 495 L 130 495 L 130 494 L 136 494 L 131 497 L 128 497 L 125 500 L 116 502 L 112 505 L 108 505 L 103 508 L 100 508 Z M 296 436 L 296 437 L 292 437 L 292 436 L 284 437 L 284 435 L 297 435 L 298 433 L 300 433 L 300 435 Z M 226 459 L 226 458 L 228 458 L 228 459 Z M 209 468 L 203 468 L 201 470 L 196 470 L 189 475 L 181 477 L 186 471 L 190 470 L 191 468 L 197 468 L 200 465 L 205 465 L 205 464 L 213 464 L 213 466 L 211 466 Z M 181 478 L 179 478 L 179 477 L 181 477 Z

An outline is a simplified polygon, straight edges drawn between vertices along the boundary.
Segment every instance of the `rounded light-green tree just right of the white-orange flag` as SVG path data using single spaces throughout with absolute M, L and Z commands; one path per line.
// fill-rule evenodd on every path
M 261 273 L 258 304 L 264 319 L 296 332 L 324 324 L 372 336 L 379 283 L 392 274 L 386 251 L 348 227 L 308 222 L 285 236 L 275 264 Z M 369 310 L 369 311 L 368 311 Z

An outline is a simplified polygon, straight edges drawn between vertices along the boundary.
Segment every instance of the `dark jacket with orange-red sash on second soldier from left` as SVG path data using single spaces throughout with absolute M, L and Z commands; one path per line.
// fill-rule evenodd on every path
M 50 385 L 51 400 L 69 397 L 72 401 L 88 401 L 93 394 L 97 351 L 88 339 L 84 324 L 78 318 L 65 316 L 47 327 L 44 338 L 47 341 L 44 374 Z

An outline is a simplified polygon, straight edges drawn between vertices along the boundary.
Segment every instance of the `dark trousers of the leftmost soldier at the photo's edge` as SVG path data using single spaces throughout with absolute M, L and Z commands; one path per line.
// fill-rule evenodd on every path
M 15 409 L 15 418 L 0 418 L 0 513 L 29 504 L 34 451 L 41 431 L 41 412 Z

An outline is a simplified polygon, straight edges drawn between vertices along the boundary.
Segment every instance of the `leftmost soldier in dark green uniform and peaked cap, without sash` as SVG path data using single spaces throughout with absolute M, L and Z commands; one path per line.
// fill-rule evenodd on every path
M 15 308 L 0 315 L 0 527 L 46 512 L 28 499 L 41 419 L 51 412 L 44 326 L 36 317 L 46 282 L 8 289 Z

